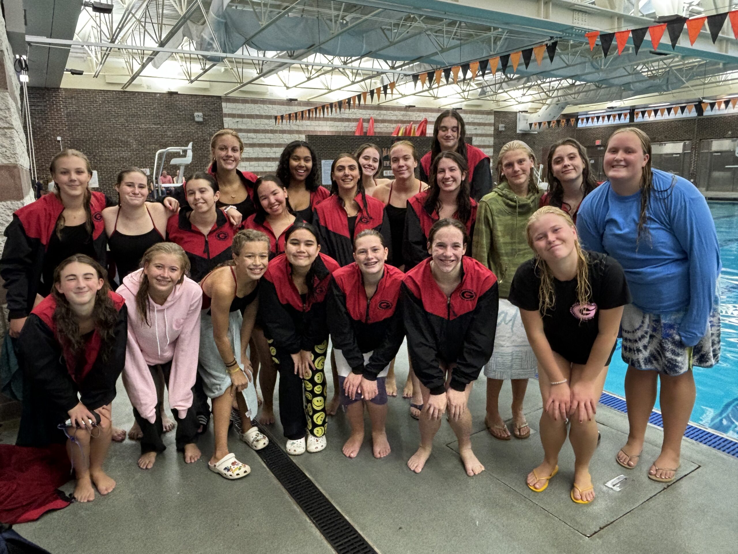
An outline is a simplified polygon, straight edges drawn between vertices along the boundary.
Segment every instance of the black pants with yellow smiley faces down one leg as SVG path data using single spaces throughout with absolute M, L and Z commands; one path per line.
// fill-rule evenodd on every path
M 269 352 L 272 361 L 279 371 L 279 417 L 284 436 L 289 440 L 299 440 L 306 432 L 315 437 L 325 435 L 325 355 L 328 350 L 328 339 L 316 344 L 311 349 L 311 358 L 315 371 L 310 369 L 308 375 L 301 378 L 294 372 L 292 356 L 275 347 L 269 341 Z

